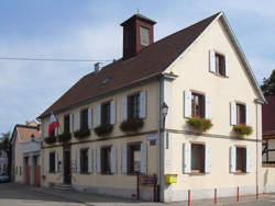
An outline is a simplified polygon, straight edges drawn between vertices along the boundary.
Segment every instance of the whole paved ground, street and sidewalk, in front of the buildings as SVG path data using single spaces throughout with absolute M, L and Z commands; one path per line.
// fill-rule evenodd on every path
M 56 192 L 46 188 L 31 187 L 18 184 L 0 184 L 0 206 L 187 206 L 182 203 L 148 203 L 124 199 L 112 196 L 79 193 L 75 191 Z M 194 201 L 191 206 L 213 206 L 212 199 Z M 240 203 L 235 198 L 219 198 L 217 205 L 222 206 L 275 206 L 275 194 L 244 196 Z

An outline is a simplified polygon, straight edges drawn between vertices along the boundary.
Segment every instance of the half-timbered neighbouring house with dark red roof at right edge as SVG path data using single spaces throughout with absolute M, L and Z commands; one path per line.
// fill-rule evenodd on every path
M 263 105 L 263 163 L 275 165 L 275 96 Z

